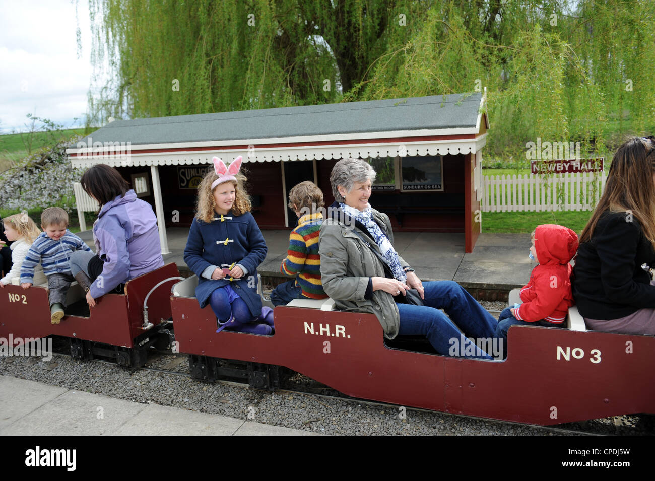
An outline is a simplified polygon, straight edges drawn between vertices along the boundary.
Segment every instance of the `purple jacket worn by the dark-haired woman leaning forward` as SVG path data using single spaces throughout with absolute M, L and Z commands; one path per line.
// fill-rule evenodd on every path
M 96 254 L 105 261 L 102 275 L 92 283 L 93 298 L 108 293 L 120 283 L 164 265 L 157 217 L 134 190 L 102 206 L 93 226 Z

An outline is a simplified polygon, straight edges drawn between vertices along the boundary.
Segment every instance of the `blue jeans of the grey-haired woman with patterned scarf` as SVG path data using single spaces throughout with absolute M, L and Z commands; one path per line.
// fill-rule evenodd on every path
M 443 355 L 493 359 L 467 337 L 491 340 L 496 319 L 457 282 L 428 281 L 423 287 L 425 306 L 397 304 L 400 312 L 398 334 L 426 336 L 432 347 Z M 445 310 L 450 319 L 440 309 Z

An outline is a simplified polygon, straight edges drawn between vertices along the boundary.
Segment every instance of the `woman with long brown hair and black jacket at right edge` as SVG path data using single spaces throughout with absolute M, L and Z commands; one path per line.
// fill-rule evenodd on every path
M 655 137 L 618 148 L 580 235 L 573 296 L 588 329 L 655 335 Z

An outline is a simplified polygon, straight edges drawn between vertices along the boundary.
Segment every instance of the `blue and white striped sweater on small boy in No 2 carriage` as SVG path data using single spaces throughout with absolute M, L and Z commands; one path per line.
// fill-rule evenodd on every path
M 37 237 L 37 240 L 29 247 L 28 255 L 20 268 L 20 281 L 33 282 L 34 268 L 41 263 L 43 274 L 71 274 L 71 266 L 68 260 L 73 251 L 92 250 L 75 234 L 66 229 L 66 233 L 60 240 L 52 240 L 45 232 Z

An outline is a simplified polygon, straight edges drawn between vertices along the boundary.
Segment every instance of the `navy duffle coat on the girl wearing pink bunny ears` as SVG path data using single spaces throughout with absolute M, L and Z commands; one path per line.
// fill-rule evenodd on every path
M 227 240 L 227 242 L 226 242 Z M 266 257 L 267 247 L 261 230 L 250 212 L 217 215 L 211 223 L 193 219 L 184 262 L 198 276 L 196 298 L 201 308 L 209 302 L 215 289 L 231 283 L 234 292 L 246 302 L 253 317 L 261 315 L 261 298 L 257 294 L 257 266 Z M 202 272 L 209 266 L 241 264 L 248 273 L 239 279 L 206 279 Z

